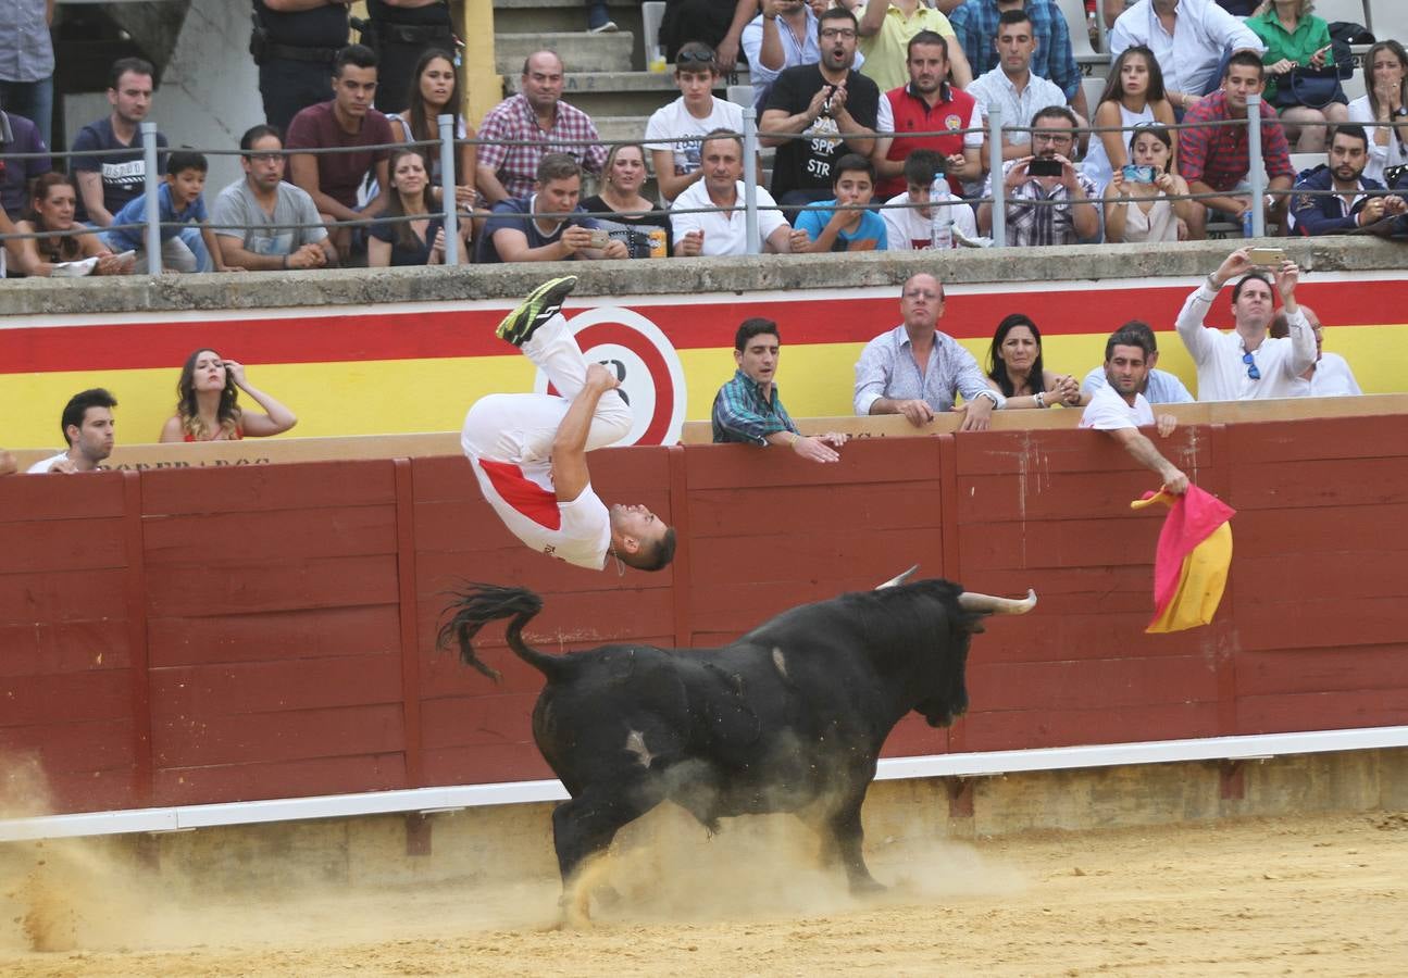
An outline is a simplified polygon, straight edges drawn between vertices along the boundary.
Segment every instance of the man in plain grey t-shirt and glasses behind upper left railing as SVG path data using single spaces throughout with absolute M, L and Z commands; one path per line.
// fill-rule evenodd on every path
M 245 177 L 220 191 L 210 212 L 215 243 L 230 267 L 245 272 L 321 269 L 338 263 L 313 197 L 283 179 L 283 141 L 272 125 L 239 139 Z M 311 227 L 310 227 L 311 225 Z

